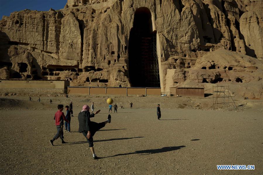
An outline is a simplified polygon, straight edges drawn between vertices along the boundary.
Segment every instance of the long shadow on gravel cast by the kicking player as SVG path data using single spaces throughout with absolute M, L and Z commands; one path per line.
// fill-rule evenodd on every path
M 184 148 L 184 147 L 185 146 L 183 146 L 183 145 L 182 146 L 169 146 L 169 147 L 152 149 L 152 150 L 140 150 L 140 151 L 135 151 L 133 153 L 116 154 L 116 155 L 108 156 L 108 157 L 115 157 L 115 156 L 120 156 L 120 155 L 130 155 L 130 154 L 147 155 L 147 154 L 155 154 L 155 153 L 165 153 L 168 151 L 179 150 L 179 149 Z M 106 157 L 101 157 L 101 158 L 106 158 Z

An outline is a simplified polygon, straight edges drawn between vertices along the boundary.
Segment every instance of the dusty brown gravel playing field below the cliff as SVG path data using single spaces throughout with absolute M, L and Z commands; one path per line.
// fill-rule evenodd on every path
M 49 97 L 40 103 L 38 97 L 28 99 L 1 98 L 0 174 L 263 174 L 262 100 L 247 100 L 246 110 L 235 112 L 206 110 L 211 98 L 114 97 L 124 109 L 112 113 L 111 123 L 95 134 L 101 158 L 93 160 L 77 132 L 77 116 L 82 105 L 95 102 L 101 112 L 92 121 L 105 121 L 106 97 L 52 97 L 53 104 Z M 74 117 L 71 133 L 64 132 L 68 143 L 57 139 L 51 146 L 56 106 L 70 101 Z M 255 165 L 255 170 L 216 168 L 232 164 Z

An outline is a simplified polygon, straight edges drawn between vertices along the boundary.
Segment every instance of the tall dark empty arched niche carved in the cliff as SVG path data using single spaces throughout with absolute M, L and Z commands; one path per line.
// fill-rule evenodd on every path
M 160 87 L 156 51 L 157 31 L 152 31 L 152 15 L 148 8 L 135 11 L 129 37 L 129 77 L 132 87 Z

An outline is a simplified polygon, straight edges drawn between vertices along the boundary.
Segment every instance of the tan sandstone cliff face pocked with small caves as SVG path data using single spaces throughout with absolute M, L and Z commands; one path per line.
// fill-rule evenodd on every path
M 67 78 L 71 85 L 133 86 L 130 74 L 137 70 L 129 55 L 136 34 L 131 31 L 136 28 L 135 15 L 149 11 L 162 91 L 193 80 L 262 79 L 255 75 L 262 71 L 262 4 L 262 0 L 68 0 L 59 11 L 14 12 L 0 21 L 0 78 Z M 250 65 L 253 61 L 256 66 Z

